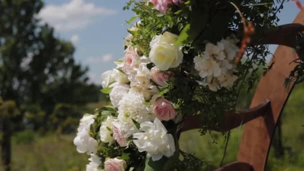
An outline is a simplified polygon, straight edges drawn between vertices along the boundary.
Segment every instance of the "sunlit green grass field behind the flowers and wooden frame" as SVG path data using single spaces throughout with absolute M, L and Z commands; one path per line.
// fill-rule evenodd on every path
M 284 155 L 275 157 L 271 148 L 266 170 L 304 170 L 304 86 L 297 86 L 291 94 L 281 117 Z M 224 149 L 224 138 L 212 132 L 199 136 L 197 130 L 181 134 L 180 148 L 209 161 L 210 170 L 219 166 Z M 31 131 L 16 133 L 12 144 L 12 170 L 84 170 L 88 163 L 86 154 L 76 152 L 71 135 L 37 135 Z M 224 163 L 235 161 L 242 128 L 231 131 Z M 252 137 L 254 138 L 254 137 Z M 0 166 L 1 170 L 1 166 Z

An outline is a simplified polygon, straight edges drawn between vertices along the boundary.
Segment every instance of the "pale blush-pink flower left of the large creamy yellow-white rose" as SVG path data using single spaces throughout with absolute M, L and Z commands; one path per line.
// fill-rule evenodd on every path
M 135 57 L 138 57 L 137 50 L 128 47 L 124 52 L 124 60 L 123 60 L 123 67 L 122 70 L 124 73 L 130 73 L 133 71 L 135 67 Z

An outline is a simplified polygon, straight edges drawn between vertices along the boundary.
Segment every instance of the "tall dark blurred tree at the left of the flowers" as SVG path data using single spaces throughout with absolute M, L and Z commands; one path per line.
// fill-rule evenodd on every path
M 28 125 L 47 129 L 45 123 L 57 103 L 79 105 L 98 100 L 98 87 L 87 82 L 88 68 L 73 59 L 73 45 L 56 38 L 53 28 L 36 18 L 42 6 L 41 0 L 0 0 L 0 96 L 4 101 L 13 100 L 20 110 L 17 117 L 10 118 L 17 124 L 2 124 L 3 134 Z M 30 119 L 24 117 L 29 115 Z M 0 117 L 2 121 L 7 118 Z M 5 141 L 1 149 L 4 160 L 9 161 L 10 145 Z M 9 162 L 5 164 L 9 170 Z

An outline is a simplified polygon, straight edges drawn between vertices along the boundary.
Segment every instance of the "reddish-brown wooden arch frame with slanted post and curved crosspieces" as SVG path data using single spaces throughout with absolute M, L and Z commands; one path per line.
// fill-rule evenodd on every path
M 294 86 L 294 82 L 285 86 L 284 80 L 296 66 L 292 61 L 298 56 L 304 57 L 303 51 L 297 55 L 293 49 L 297 34 L 304 31 L 302 24 L 304 24 L 304 10 L 298 13 L 292 24 L 277 26 L 265 32 L 262 39 L 251 42 L 251 45 L 279 44 L 279 46 L 270 60 L 270 63 L 273 63 L 272 68 L 261 77 L 257 85 L 250 105 L 253 108 L 236 114 L 225 113 L 224 124 L 219 129 L 215 129 L 225 131 L 246 123 L 237 161 L 218 168 L 218 171 L 265 169 L 278 118 Z M 193 128 L 199 128 L 197 116 L 186 118 L 182 131 Z

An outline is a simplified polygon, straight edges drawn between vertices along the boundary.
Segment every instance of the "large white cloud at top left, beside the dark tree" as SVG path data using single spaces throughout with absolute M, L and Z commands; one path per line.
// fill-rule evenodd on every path
M 96 6 L 84 0 L 70 0 L 61 5 L 46 5 L 38 16 L 59 31 L 69 31 L 86 27 L 94 16 L 105 16 L 116 13 L 113 9 Z

